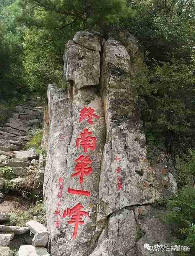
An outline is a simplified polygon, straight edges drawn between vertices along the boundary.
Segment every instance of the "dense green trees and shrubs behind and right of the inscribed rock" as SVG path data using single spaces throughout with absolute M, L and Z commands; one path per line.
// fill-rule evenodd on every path
M 195 249 L 195 1 L 0 0 L 0 98 L 62 84 L 65 42 L 85 29 L 139 40 L 144 64 L 133 83 L 148 157 L 171 155 L 179 194 L 167 202 L 168 220 L 182 223 L 176 236 Z

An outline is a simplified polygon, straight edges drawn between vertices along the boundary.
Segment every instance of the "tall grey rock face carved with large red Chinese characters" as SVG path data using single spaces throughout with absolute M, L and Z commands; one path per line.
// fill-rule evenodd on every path
M 51 256 L 150 255 L 145 243 L 170 243 L 150 204 L 173 196 L 177 185 L 163 156 L 156 166 L 146 157 L 131 85 L 135 56 L 113 38 L 104 42 L 89 32 L 73 41 L 64 53 L 67 93 L 55 85 L 47 91 L 43 187 Z M 135 43 L 128 42 L 134 55 Z

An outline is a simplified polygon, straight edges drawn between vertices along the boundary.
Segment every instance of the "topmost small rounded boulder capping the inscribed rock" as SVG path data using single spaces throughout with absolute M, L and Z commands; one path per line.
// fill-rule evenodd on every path
M 73 41 L 88 49 L 101 51 L 101 36 L 94 35 L 88 31 L 78 31 L 74 35 Z

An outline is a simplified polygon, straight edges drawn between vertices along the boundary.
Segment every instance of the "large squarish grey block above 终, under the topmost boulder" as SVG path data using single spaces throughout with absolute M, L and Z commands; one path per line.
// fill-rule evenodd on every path
M 100 55 L 68 41 L 64 52 L 64 74 L 67 81 L 74 81 L 76 88 L 98 85 L 100 76 Z

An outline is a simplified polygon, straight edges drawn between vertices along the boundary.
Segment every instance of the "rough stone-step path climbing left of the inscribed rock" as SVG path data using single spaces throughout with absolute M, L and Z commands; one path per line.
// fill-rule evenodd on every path
M 31 172 L 38 168 L 39 155 L 36 150 L 24 149 L 27 142 L 31 140 L 34 131 L 42 125 L 43 111 L 44 107 L 37 104 L 37 98 L 32 97 L 24 105 L 15 107 L 12 118 L 8 119 L 6 124 L 0 127 L 0 167 L 8 166 L 9 170 L 12 171 L 15 178 L 10 180 L 10 184 L 13 184 L 13 188 L 27 183 L 26 178 L 28 177 L 29 179 L 29 171 Z M 43 164 L 42 160 L 40 163 Z M 10 256 L 11 251 L 8 247 L 13 242 L 13 238 L 15 239 L 17 235 L 28 233 L 29 228 L 6 225 L 6 222 L 10 221 L 12 210 L 14 212 L 17 209 L 10 209 L 9 212 L 5 213 L 5 202 L 8 205 L 10 203 L 11 206 L 15 205 L 14 202 L 6 200 L 11 198 L 9 192 L 7 194 L 1 192 L 5 188 L 5 183 L 6 181 L 1 178 L 0 172 L 0 255 Z M 44 243 L 47 243 L 46 236 L 44 236 L 44 239 Z M 45 248 L 42 250 L 46 251 Z

